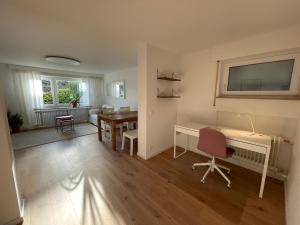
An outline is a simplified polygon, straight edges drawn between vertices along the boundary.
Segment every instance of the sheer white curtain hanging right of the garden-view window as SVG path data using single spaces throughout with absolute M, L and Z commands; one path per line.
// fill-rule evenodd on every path
M 103 98 L 103 78 L 87 78 L 89 105 L 93 108 L 101 106 Z

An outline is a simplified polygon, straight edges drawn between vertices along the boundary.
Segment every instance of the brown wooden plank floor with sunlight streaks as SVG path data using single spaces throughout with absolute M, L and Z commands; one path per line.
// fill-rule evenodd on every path
M 128 146 L 127 146 L 128 148 Z M 143 161 L 114 152 L 97 134 L 16 153 L 25 225 L 100 224 L 284 224 L 283 184 L 267 179 L 258 199 L 259 175 L 232 168 L 232 190 L 188 153 L 177 160 L 166 151 Z

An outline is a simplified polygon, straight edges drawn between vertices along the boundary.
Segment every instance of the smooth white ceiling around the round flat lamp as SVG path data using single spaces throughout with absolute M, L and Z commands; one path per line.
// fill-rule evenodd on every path
M 138 41 L 185 53 L 296 25 L 299 9 L 300 0 L 1 0 L 0 62 L 107 73 L 136 65 Z

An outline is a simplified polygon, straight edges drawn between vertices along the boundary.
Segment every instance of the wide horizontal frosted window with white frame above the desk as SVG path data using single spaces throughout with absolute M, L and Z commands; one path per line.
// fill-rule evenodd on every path
M 289 54 L 222 63 L 223 95 L 297 95 L 300 56 Z

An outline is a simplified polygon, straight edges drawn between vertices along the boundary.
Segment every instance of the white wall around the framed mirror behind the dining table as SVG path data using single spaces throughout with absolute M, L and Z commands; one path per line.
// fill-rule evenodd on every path
M 104 97 L 104 103 L 119 108 L 121 106 L 130 106 L 132 110 L 137 110 L 137 68 L 128 68 L 104 75 L 104 88 L 112 81 L 125 81 L 125 99 Z

